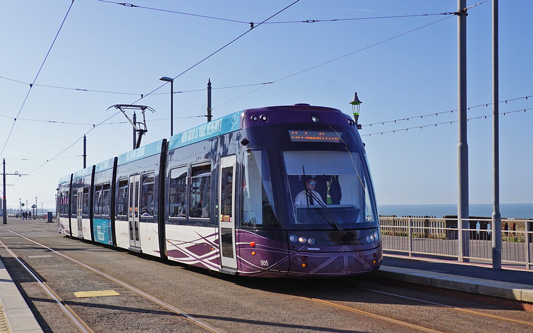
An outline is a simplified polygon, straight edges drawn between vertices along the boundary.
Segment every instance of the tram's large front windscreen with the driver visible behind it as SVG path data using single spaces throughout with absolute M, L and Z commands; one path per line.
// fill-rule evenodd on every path
M 361 153 L 286 151 L 293 227 L 377 226 L 370 176 Z

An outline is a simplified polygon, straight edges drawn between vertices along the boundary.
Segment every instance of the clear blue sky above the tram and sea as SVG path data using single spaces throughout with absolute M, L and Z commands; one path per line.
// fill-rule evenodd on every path
M 152 107 L 144 143 L 168 137 L 161 76 L 177 77 L 175 133 L 206 121 L 208 79 L 214 117 L 302 102 L 350 113 L 357 91 L 378 203 L 457 202 L 457 18 L 437 15 L 457 1 L 301 0 L 251 31 L 293 1 L 131 1 L 76 0 L 66 15 L 70 0 L 0 0 L 0 158 L 28 174 L 8 177 L 9 207 L 52 207 L 84 134 L 88 165 L 131 149 L 123 115 L 102 123 L 111 105 Z M 481 1 L 467 18 L 471 203 L 492 202 L 491 11 Z M 533 202 L 532 14 L 533 1 L 500 1 L 502 203 Z M 320 22 L 280 23 L 307 20 Z

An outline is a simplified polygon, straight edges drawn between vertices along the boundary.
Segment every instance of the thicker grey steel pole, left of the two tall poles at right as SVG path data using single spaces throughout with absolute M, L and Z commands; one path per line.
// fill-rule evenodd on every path
M 458 55 L 458 123 L 459 142 L 457 144 L 458 163 L 458 202 L 457 202 L 457 227 L 458 227 L 458 258 L 464 261 L 463 256 L 469 255 L 468 229 L 469 202 L 468 202 L 468 143 L 467 143 L 467 103 L 466 103 L 466 0 L 457 1 L 457 55 Z

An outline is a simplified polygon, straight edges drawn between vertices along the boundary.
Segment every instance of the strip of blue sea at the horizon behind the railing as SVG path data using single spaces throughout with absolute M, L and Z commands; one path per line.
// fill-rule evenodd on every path
M 492 217 L 492 204 L 470 204 L 469 215 Z M 457 204 L 392 204 L 379 205 L 379 215 L 434 216 L 457 215 Z M 533 204 L 500 204 L 502 218 L 533 219 Z

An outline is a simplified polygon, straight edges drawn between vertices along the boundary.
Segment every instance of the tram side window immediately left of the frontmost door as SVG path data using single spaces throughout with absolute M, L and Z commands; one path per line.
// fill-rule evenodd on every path
M 189 216 L 209 217 L 209 195 L 211 193 L 211 165 L 192 168 L 191 192 L 189 197 Z

